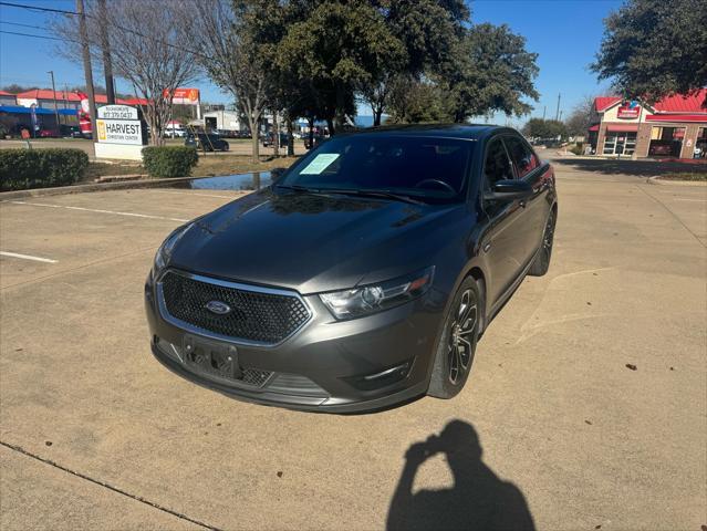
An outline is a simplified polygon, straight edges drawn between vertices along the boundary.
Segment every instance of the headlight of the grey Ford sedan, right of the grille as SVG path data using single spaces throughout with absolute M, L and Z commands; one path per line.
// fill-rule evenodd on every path
M 319 296 L 332 314 L 340 320 L 380 312 L 423 295 L 432 285 L 435 268 L 380 284 L 351 290 L 321 293 Z

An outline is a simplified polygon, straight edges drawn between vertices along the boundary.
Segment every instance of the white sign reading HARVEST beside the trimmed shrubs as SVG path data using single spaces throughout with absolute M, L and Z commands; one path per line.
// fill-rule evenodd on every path
M 137 108 L 128 105 L 98 107 L 95 152 L 97 158 L 142 160 L 147 144 L 145 123 Z

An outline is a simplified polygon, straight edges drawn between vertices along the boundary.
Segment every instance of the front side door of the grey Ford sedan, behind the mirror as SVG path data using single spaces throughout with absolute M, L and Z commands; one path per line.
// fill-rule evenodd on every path
M 514 173 L 501 136 L 487 142 L 482 183 L 484 191 L 491 191 L 497 180 L 513 179 Z M 524 258 L 522 212 L 518 200 L 484 198 L 482 208 L 488 216 L 488 230 L 481 239 L 481 249 L 489 267 L 488 294 L 496 302 L 520 274 Z

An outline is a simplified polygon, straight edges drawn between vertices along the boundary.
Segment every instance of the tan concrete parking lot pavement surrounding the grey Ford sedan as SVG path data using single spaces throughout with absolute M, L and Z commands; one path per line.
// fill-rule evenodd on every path
M 236 192 L 1 204 L 0 528 L 371 530 L 496 504 L 539 529 L 699 530 L 707 189 L 559 169 L 550 272 L 493 321 L 464 392 L 363 416 L 239 403 L 153 358 L 155 250 Z M 404 467 L 448 425 L 446 457 Z

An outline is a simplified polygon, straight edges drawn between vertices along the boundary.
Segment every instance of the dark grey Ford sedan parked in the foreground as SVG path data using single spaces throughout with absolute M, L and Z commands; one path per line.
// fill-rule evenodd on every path
M 291 408 L 450 398 L 495 314 L 548 271 L 557 208 L 553 168 L 511 128 L 336 135 L 167 237 L 145 285 L 153 353 Z

